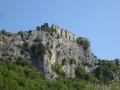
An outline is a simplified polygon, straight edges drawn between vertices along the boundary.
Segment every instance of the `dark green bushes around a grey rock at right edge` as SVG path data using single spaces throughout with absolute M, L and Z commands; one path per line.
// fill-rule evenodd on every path
M 120 78 L 120 66 L 113 61 L 98 60 L 98 65 L 94 73 L 99 82 L 109 83 Z

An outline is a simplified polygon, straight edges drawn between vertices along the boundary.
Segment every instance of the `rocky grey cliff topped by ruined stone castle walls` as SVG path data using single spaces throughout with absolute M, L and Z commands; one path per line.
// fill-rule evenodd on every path
M 79 42 L 78 42 L 78 41 Z M 60 30 L 47 23 L 36 30 L 0 33 L 0 58 L 16 62 L 20 58 L 31 61 L 47 78 L 59 75 L 75 77 L 75 69 L 81 65 L 92 72 L 97 63 L 86 38 L 78 38 L 67 30 Z

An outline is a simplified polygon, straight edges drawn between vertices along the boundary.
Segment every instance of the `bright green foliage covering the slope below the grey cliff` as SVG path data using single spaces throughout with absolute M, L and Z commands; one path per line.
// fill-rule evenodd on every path
M 105 72 L 107 68 L 114 70 L 115 66 L 111 62 L 109 63 L 100 61 L 100 65 L 104 64 L 103 67 L 100 67 L 104 69 L 100 71 Z M 57 62 L 52 68 L 58 73 L 62 71 L 62 65 Z M 0 59 L 0 90 L 119 90 L 120 88 L 119 81 L 109 84 L 93 81 L 95 77 L 85 72 L 80 66 L 76 67 L 76 73 L 78 74 L 77 78 L 61 76 L 54 80 L 48 80 L 27 60 L 19 57 L 16 62 L 12 63 Z M 103 73 L 99 74 L 103 75 Z M 98 77 L 99 74 L 97 73 Z M 98 80 L 101 79 L 98 78 Z

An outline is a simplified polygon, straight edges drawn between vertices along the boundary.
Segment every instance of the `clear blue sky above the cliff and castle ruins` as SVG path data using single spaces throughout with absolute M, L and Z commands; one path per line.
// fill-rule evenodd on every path
M 0 0 L 0 29 L 30 30 L 45 22 L 89 38 L 98 58 L 120 58 L 120 0 Z

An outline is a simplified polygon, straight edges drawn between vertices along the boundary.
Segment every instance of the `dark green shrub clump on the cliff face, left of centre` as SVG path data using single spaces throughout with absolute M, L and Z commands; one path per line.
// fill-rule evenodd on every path
M 29 53 L 31 55 L 34 55 L 35 57 L 37 55 L 42 55 L 48 52 L 49 56 L 51 57 L 52 55 L 51 50 L 47 46 L 43 45 L 41 43 L 41 40 L 35 39 L 34 42 L 36 42 L 36 44 L 33 44 L 31 46 L 29 46 L 29 44 L 25 42 L 23 45 L 18 45 L 18 48 L 20 48 L 21 53 L 25 55 Z

